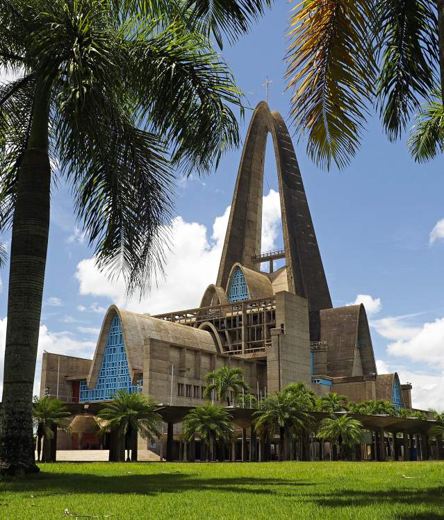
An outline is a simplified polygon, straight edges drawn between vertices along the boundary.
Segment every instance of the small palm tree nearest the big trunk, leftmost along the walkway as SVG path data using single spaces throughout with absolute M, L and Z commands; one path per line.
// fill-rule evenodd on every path
M 71 415 L 67 412 L 65 404 L 60 399 L 52 399 L 49 396 L 39 399 L 37 396 L 33 400 L 33 423 L 37 437 L 37 460 L 40 462 L 40 454 L 43 456 L 42 462 L 47 462 L 47 441 L 54 437 L 53 428 L 56 426 L 65 431 L 69 431 L 69 426 L 64 419 Z

